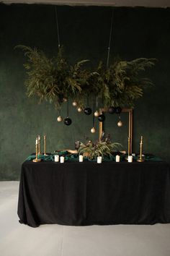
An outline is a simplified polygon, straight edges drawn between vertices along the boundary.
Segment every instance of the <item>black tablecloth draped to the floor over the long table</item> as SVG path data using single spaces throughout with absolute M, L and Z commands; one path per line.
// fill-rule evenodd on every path
M 32 227 L 169 223 L 169 165 L 25 161 L 18 216 Z

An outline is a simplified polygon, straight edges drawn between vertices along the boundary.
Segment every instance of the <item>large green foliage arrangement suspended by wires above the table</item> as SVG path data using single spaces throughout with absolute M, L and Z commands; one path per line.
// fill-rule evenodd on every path
M 27 57 L 24 67 L 27 70 L 25 85 L 28 97 L 36 95 L 40 101 L 54 103 L 56 108 L 60 108 L 63 98 L 68 97 L 81 107 L 86 106 L 88 97 L 98 97 L 105 108 L 133 107 L 135 100 L 143 96 L 143 89 L 152 85 L 147 77 L 141 77 L 141 72 L 153 67 L 156 59 L 115 59 L 108 68 L 101 61 L 91 72 L 84 68 L 88 60 L 68 64 L 63 48 L 53 58 L 48 58 L 36 48 L 17 48 L 22 48 Z

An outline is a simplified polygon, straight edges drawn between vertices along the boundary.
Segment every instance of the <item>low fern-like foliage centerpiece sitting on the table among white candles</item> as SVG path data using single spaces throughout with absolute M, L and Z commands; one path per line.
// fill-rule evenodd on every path
M 97 156 L 102 156 L 103 158 L 104 156 L 111 156 L 113 151 L 118 150 L 120 147 L 120 143 L 111 142 L 108 138 L 95 143 L 89 140 L 89 142 L 85 144 L 81 142 L 78 152 L 90 159 L 97 158 Z

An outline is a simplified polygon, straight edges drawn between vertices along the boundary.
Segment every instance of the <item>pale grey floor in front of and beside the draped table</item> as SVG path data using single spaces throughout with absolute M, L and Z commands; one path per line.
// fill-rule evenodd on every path
M 59 226 L 19 224 L 19 182 L 0 182 L 1 256 L 170 256 L 170 224 Z

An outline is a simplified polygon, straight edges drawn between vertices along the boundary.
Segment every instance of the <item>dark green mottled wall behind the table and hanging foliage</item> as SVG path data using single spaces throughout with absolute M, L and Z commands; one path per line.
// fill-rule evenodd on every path
M 74 148 L 74 140 L 91 135 L 91 117 L 70 108 L 73 125 L 66 127 L 56 121 L 57 111 L 48 103 L 37 104 L 36 98 L 25 95 L 24 56 L 14 46 L 36 46 L 49 56 L 58 47 L 53 6 L 0 5 L 0 179 L 19 179 L 21 164 L 35 150 L 37 134 L 47 135 L 48 152 Z M 58 7 L 61 43 L 73 63 L 91 59 L 91 67 L 107 58 L 109 26 L 112 9 L 104 7 Z M 158 64 L 146 74 L 153 80 L 151 89 L 138 101 L 134 110 L 133 151 L 138 151 L 140 135 L 144 150 L 170 162 L 170 9 L 115 9 L 111 61 L 154 57 Z M 66 106 L 62 111 L 66 116 Z M 116 122 L 108 116 L 107 132 L 114 141 L 126 147 L 127 129 L 117 133 Z M 122 115 L 127 123 L 127 116 Z M 111 128 L 113 127 L 113 128 Z M 114 129 L 116 131 L 114 132 Z M 120 136 L 120 137 L 119 137 Z

